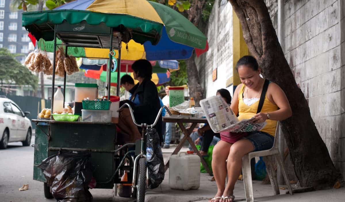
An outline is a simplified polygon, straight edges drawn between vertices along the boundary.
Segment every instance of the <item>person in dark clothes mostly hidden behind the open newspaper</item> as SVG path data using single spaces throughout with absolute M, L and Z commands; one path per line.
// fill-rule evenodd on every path
M 226 103 L 228 103 L 229 105 L 231 104 L 231 95 L 227 89 L 221 88 L 217 90 L 216 95 L 220 95 Z M 194 143 L 198 144 L 200 138 L 202 138 L 203 141 L 201 143 L 201 148 L 199 152 L 201 156 L 207 156 L 208 147 L 211 145 L 212 142 L 214 142 L 214 139 L 220 140 L 220 134 L 214 133 L 208 124 L 205 124 L 204 127 L 199 128 L 198 134 L 200 137 Z

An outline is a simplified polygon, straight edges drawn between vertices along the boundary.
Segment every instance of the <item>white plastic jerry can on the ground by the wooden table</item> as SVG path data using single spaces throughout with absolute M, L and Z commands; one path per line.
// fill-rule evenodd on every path
M 178 152 L 169 160 L 169 186 L 171 189 L 190 190 L 200 186 L 200 157 Z

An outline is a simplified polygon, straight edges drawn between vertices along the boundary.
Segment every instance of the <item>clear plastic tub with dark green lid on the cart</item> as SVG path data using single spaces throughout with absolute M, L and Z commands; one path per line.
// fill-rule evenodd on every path
M 75 96 L 74 102 L 82 102 L 84 98 L 90 98 L 90 100 L 97 98 L 97 84 L 75 84 Z

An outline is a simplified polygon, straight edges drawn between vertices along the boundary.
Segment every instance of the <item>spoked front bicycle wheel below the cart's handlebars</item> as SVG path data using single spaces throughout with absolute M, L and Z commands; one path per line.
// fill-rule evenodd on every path
M 138 165 L 137 187 L 136 187 L 137 202 L 145 202 L 146 191 L 146 159 L 140 158 Z

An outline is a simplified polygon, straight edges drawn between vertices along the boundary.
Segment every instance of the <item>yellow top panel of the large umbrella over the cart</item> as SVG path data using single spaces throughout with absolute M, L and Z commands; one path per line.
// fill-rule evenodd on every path
M 86 10 L 126 14 L 164 24 L 156 10 L 146 0 L 95 0 Z

